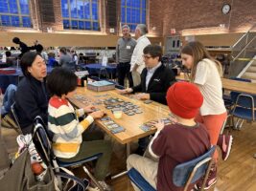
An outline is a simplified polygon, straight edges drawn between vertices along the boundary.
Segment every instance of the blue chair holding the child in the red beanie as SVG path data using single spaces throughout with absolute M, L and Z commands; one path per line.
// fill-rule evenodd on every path
M 211 169 L 211 164 L 213 161 L 212 156 L 215 150 L 216 146 L 213 146 L 210 150 L 197 159 L 192 159 L 176 165 L 173 171 L 172 180 L 175 186 L 184 187 L 183 190 L 187 191 L 191 183 L 195 183 L 204 177 L 203 184 L 200 188 L 202 191 Z M 151 184 L 145 180 L 134 168 L 131 168 L 128 171 L 128 178 L 142 191 L 155 191 Z

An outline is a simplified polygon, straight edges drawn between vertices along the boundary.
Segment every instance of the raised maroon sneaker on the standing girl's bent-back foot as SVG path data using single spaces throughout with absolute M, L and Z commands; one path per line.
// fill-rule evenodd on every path
M 218 139 L 217 145 L 221 148 L 221 156 L 223 160 L 228 159 L 231 146 L 233 142 L 233 137 L 230 135 L 221 135 Z

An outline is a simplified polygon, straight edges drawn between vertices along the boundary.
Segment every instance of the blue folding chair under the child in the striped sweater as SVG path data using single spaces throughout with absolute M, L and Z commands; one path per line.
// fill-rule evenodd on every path
M 99 159 L 102 156 L 102 153 L 96 154 L 89 158 L 81 159 L 78 161 L 72 162 L 63 162 L 58 160 L 58 158 L 54 155 L 52 150 L 52 142 L 51 142 L 51 132 L 49 132 L 45 126 L 43 125 L 41 117 L 35 117 L 34 122 L 34 136 L 33 141 L 35 143 L 35 149 L 39 153 L 41 159 L 47 166 L 53 166 L 58 169 L 59 167 L 79 167 L 82 165 L 82 168 L 86 175 L 93 181 L 93 183 L 101 190 L 104 191 L 104 188 L 101 184 L 93 177 L 93 175 L 86 168 L 86 162 L 93 161 L 95 159 Z

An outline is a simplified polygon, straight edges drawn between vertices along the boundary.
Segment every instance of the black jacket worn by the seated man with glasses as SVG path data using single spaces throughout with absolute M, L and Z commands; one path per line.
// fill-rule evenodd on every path
M 151 80 L 146 89 L 146 76 L 148 69 L 143 69 L 141 73 L 141 83 L 138 86 L 132 88 L 133 93 L 141 92 L 148 93 L 151 96 L 151 100 L 159 103 L 167 104 L 166 93 L 171 85 L 175 83 L 175 74 L 173 71 L 166 68 L 163 64 L 156 69 L 151 76 Z

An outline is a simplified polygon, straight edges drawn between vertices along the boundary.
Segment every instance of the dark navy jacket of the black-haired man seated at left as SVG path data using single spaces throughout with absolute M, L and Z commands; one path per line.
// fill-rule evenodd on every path
M 32 125 L 36 116 L 42 117 L 47 124 L 48 100 L 45 80 L 41 82 L 33 76 L 21 80 L 15 95 L 15 110 L 21 128 Z

